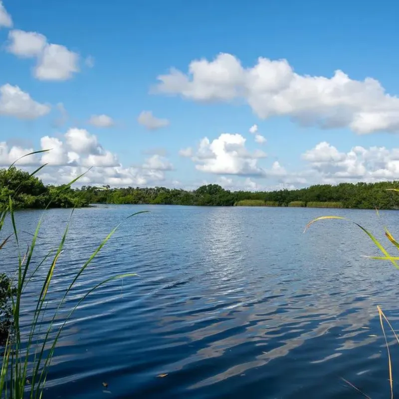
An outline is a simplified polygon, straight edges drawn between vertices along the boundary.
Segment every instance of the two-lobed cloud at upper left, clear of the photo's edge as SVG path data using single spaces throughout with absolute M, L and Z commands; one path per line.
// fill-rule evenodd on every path
M 79 72 L 79 54 L 37 32 L 11 30 L 6 48 L 18 57 L 36 58 L 33 75 L 39 80 L 67 80 Z

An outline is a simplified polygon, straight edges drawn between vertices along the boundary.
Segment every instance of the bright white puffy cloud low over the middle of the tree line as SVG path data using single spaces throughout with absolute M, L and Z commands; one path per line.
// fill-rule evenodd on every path
M 200 141 L 193 161 L 202 172 L 225 175 L 263 175 L 257 165 L 265 157 L 261 151 L 250 153 L 245 148 L 245 138 L 240 134 L 223 133 L 212 142 L 206 137 Z

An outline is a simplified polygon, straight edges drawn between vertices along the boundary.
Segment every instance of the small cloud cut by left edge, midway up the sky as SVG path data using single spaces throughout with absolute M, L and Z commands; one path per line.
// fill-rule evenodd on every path
M 50 112 L 50 107 L 34 101 L 18 86 L 5 84 L 0 87 L 0 115 L 20 119 L 35 119 Z

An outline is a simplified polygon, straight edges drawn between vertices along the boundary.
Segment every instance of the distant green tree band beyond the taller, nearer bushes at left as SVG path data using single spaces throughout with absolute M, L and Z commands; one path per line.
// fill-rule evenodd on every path
M 230 192 L 218 185 L 201 186 L 195 191 L 155 188 L 118 188 L 83 186 L 76 191 L 89 203 L 153 203 L 179 205 L 266 205 L 317 206 L 345 208 L 399 209 L 399 196 L 387 189 L 399 188 L 399 182 L 342 183 L 337 186 L 317 185 L 299 190 L 273 192 Z M 248 200 L 252 200 L 248 202 Z M 256 201 L 254 201 L 256 200 Z

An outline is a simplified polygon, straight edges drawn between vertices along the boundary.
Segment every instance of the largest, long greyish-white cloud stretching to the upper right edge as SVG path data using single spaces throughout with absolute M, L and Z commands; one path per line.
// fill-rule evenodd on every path
M 331 77 L 300 75 L 285 59 L 262 57 L 244 68 L 221 53 L 212 61 L 192 61 L 187 74 L 172 68 L 158 81 L 153 91 L 195 101 L 243 98 L 262 119 L 286 116 L 301 125 L 347 127 L 358 134 L 399 132 L 399 98 L 376 79 L 354 80 L 341 70 Z

